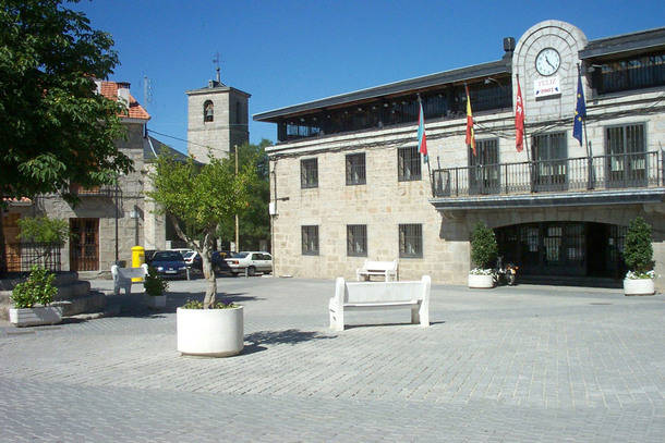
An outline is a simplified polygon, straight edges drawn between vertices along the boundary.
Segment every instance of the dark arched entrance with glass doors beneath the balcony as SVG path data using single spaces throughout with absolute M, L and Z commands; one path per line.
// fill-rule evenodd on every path
M 592 222 L 537 222 L 495 230 L 504 262 L 528 280 L 551 276 L 622 279 L 626 226 Z

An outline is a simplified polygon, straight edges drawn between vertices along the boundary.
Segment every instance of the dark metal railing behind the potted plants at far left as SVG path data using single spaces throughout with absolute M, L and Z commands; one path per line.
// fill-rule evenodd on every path
M 0 273 L 29 272 L 33 266 L 51 272 L 62 270 L 61 246 L 52 243 L 8 243 L 4 260 L 0 260 Z

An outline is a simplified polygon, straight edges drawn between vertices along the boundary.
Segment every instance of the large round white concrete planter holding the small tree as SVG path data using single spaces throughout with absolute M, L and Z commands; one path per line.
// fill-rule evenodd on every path
M 176 313 L 178 350 L 185 355 L 229 357 L 244 346 L 242 306 L 231 309 L 184 309 Z

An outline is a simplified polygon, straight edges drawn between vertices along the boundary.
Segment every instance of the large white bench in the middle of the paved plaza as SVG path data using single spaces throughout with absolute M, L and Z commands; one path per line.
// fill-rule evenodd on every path
M 361 309 L 411 308 L 411 323 L 430 325 L 430 275 L 413 282 L 335 282 L 335 297 L 330 298 L 330 329 L 344 330 L 344 311 Z

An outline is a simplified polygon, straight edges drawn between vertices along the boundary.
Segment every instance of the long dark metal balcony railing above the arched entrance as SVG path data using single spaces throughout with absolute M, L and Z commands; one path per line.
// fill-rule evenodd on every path
M 434 197 L 665 186 L 662 152 L 523 161 L 432 171 Z

